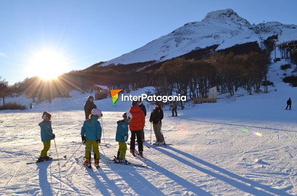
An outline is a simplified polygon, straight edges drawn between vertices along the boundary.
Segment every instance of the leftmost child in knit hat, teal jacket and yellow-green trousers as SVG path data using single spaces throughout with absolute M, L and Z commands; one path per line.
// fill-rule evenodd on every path
M 53 134 L 52 129 L 51 117 L 52 115 L 50 113 L 44 111 L 42 114 L 43 121 L 38 124 L 40 126 L 41 141 L 44 145 L 39 157 L 40 161 L 52 159 L 52 157 L 47 155 L 49 149 L 51 148 L 51 140 L 55 139 L 55 134 Z

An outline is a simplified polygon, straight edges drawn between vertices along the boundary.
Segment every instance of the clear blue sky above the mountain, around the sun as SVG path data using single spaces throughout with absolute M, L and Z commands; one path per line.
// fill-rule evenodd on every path
M 219 9 L 232 8 L 250 23 L 297 24 L 296 7 L 295 0 L 0 0 L 0 76 L 10 84 L 31 77 L 30 59 L 49 48 L 67 59 L 63 71 L 85 69 Z

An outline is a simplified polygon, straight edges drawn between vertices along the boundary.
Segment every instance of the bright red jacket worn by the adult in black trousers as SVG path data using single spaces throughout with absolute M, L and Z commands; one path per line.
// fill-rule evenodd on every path
M 138 106 L 132 106 L 129 110 L 132 114 L 132 120 L 129 124 L 130 130 L 142 130 L 145 124 L 145 116 Z

